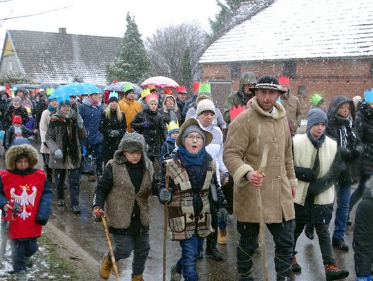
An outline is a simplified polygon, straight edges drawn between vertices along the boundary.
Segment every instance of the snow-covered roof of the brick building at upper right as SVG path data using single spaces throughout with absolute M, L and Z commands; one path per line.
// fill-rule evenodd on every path
M 211 44 L 200 63 L 373 57 L 372 0 L 276 0 Z

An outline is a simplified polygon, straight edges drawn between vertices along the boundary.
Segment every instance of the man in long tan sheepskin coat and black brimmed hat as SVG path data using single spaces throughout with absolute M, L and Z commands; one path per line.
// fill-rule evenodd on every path
M 240 280 L 251 277 L 251 260 L 258 248 L 260 213 L 257 188 L 262 197 L 265 224 L 276 244 L 277 280 L 285 280 L 291 269 L 294 237 L 294 187 L 297 184 L 291 153 L 291 135 L 283 106 L 276 99 L 283 93 L 276 77 L 265 75 L 250 88 L 256 95 L 250 107 L 233 120 L 224 145 L 224 164 L 233 175 L 233 215 L 240 240 L 237 268 Z M 267 144 L 267 166 L 259 173 Z M 259 278 L 260 279 L 260 278 Z

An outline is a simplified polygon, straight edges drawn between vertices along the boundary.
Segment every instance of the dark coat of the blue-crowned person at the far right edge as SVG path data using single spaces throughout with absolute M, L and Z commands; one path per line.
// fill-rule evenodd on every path
M 354 124 L 364 147 L 361 156 L 361 175 L 370 176 L 373 175 L 373 109 L 363 100 L 359 104 Z

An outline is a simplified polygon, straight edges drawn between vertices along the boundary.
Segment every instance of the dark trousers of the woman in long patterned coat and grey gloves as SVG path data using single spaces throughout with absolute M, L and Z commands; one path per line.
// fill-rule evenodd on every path
M 71 206 L 79 205 L 79 168 L 71 170 L 55 169 L 55 186 L 57 189 L 57 199 L 65 199 L 64 195 L 64 182 L 68 172 L 68 184 L 70 186 L 70 204 Z

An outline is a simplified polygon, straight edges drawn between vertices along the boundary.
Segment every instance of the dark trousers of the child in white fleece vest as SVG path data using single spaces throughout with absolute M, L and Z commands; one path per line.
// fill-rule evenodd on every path
M 330 240 L 329 224 L 315 224 L 316 234 L 318 236 L 318 244 L 321 250 L 324 264 L 335 264 L 336 260 L 333 258 L 332 242 Z M 305 223 L 296 222 L 296 229 L 294 231 L 294 254 L 296 253 L 296 241 L 305 228 Z

